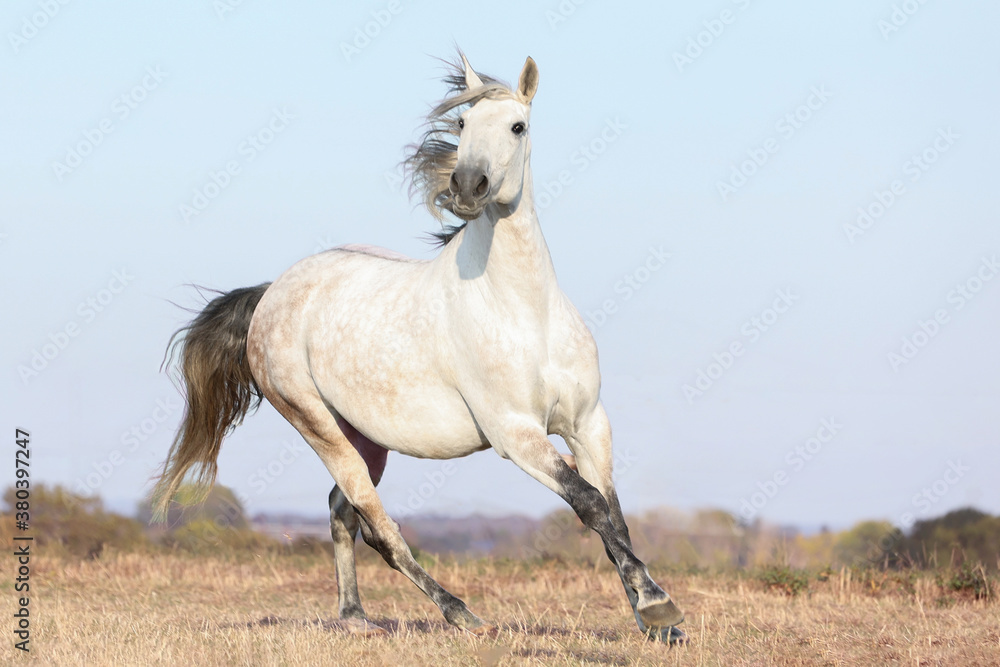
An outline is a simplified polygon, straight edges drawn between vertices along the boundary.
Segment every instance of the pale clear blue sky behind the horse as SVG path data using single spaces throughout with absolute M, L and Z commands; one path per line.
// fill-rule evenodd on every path
M 1000 512 L 1000 8 L 471 7 L 5 3 L 0 402 L 36 482 L 122 510 L 148 490 L 186 285 L 347 242 L 433 256 L 397 165 L 458 44 L 507 80 L 538 63 L 539 217 L 600 347 L 627 511 Z M 269 407 L 219 479 L 316 515 L 331 483 Z M 380 491 L 397 516 L 561 506 L 491 452 L 391 456 Z

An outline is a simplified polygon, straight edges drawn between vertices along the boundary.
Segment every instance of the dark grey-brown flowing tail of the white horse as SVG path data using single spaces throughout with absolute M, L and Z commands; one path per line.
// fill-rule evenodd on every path
M 194 493 L 185 504 L 205 499 L 215 483 L 222 439 L 260 405 L 262 394 L 247 361 L 247 333 L 270 283 L 221 293 L 171 337 L 167 360 L 179 348 L 186 409 L 170 453 L 153 489 L 153 520 L 167 517 L 170 501 L 194 468 Z

